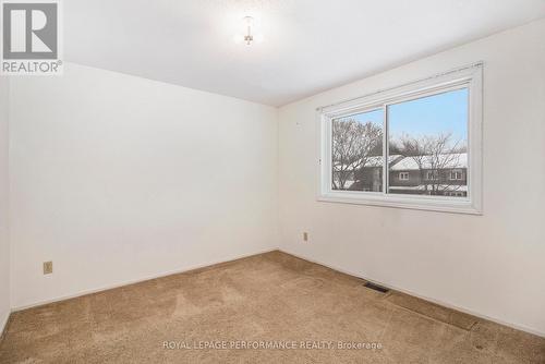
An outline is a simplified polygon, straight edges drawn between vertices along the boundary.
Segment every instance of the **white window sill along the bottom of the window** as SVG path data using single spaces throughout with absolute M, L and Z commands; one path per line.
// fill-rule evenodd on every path
M 317 197 L 319 202 L 407 208 L 452 214 L 483 215 L 482 208 L 468 198 L 427 198 L 392 196 L 365 192 L 329 192 Z

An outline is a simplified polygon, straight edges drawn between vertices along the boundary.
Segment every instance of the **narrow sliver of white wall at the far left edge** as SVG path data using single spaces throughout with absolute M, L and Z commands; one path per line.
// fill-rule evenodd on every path
M 8 240 L 8 78 L 0 76 L 0 335 L 11 311 L 10 244 Z

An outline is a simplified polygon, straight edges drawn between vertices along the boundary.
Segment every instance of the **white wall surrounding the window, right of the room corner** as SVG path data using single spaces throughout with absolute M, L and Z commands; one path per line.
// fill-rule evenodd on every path
M 282 107 L 280 247 L 545 335 L 543 39 L 534 22 Z M 315 108 L 481 60 L 484 216 L 316 202 Z

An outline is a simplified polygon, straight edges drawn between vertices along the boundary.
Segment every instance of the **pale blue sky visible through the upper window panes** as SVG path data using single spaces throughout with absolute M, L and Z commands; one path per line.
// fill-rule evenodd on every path
M 468 89 L 457 89 L 389 106 L 390 138 L 452 133 L 455 141 L 468 137 Z M 383 110 L 351 117 L 360 122 L 383 124 Z

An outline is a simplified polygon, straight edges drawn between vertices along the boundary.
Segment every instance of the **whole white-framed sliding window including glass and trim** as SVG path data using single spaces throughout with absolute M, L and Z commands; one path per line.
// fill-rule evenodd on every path
M 482 64 L 319 109 L 318 199 L 481 213 Z

